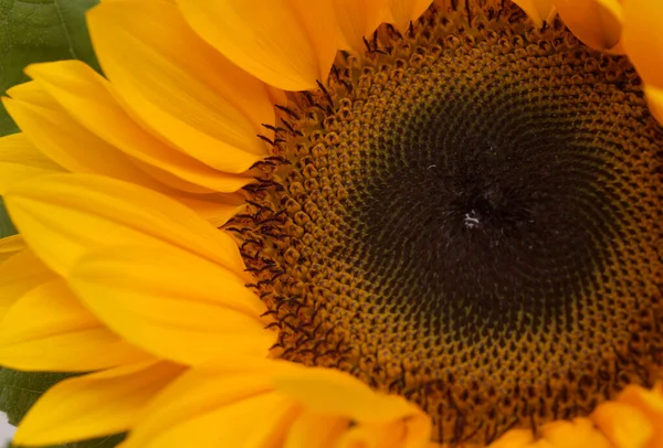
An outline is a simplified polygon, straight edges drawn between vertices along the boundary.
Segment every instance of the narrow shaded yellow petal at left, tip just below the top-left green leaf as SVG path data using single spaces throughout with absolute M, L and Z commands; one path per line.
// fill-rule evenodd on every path
M 4 100 L 8 113 L 23 130 L 22 136 L 48 159 L 67 171 L 158 188 L 158 182 L 139 170 L 129 157 L 81 126 L 35 82 L 10 88 L 8 94 L 12 97 Z

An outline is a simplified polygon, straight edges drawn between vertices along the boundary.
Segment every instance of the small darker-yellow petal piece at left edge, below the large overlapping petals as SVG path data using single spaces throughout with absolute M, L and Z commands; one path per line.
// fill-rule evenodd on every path
M 0 265 L 0 320 L 24 294 L 55 279 L 55 274 L 30 249 L 23 249 Z

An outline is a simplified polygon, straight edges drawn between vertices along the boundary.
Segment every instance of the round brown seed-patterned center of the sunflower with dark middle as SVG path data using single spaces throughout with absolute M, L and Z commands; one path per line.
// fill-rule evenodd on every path
M 430 10 L 284 107 L 229 226 L 275 354 L 435 439 L 586 415 L 663 365 L 663 134 L 624 58 L 514 8 Z

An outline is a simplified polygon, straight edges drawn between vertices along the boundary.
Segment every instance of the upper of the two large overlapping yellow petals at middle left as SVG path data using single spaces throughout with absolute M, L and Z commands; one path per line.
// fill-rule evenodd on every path
M 155 242 L 244 275 L 229 235 L 190 209 L 138 185 L 88 174 L 53 174 L 22 182 L 7 193 L 6 202 L 28 245 L 63 276 L 95 248 Z

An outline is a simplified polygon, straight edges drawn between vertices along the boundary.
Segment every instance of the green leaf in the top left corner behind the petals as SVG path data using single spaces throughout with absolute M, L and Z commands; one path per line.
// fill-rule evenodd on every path
M 0 0 L 0 95 L 34 62 L 81 60 L 98 71 L 85 11 L 98 0 Z M 0 105 L 0 136 L 18 131 Z

